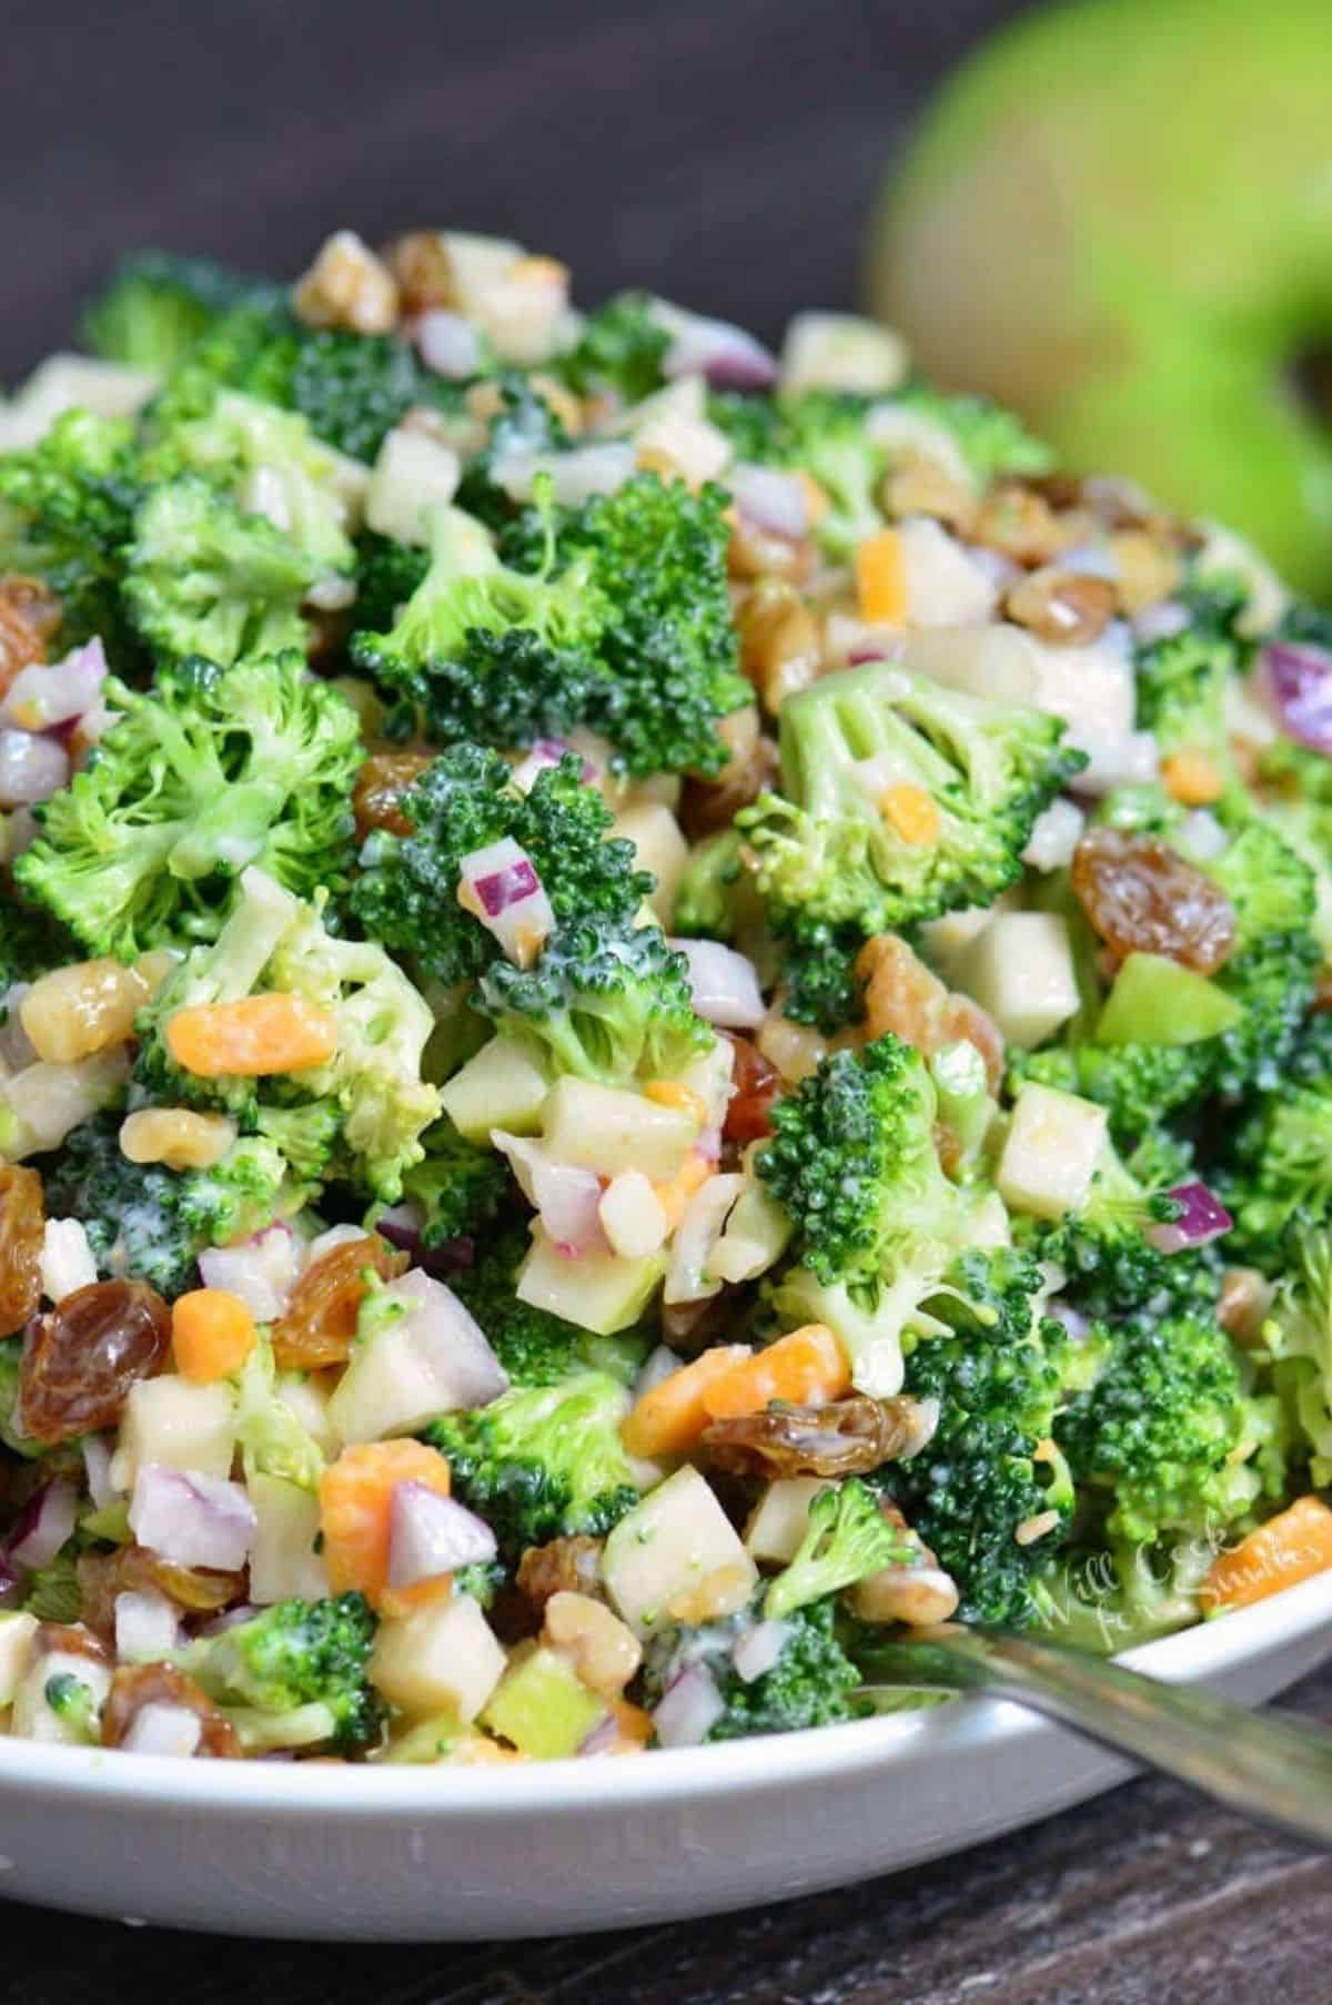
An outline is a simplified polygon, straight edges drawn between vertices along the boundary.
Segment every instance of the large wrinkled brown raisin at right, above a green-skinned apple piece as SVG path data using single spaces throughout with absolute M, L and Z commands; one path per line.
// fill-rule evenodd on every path
M 1155 836 L 1091 828 L 1073 850 L 1073 894 L 1119 956 L 1163 954 L 1216 974 L 1236 944 L 1230 898 Z

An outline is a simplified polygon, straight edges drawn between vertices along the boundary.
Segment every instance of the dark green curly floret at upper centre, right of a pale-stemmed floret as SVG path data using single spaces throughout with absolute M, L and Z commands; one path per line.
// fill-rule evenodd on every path
M 726 583 L 728 497 L 640 473 L 560 517 L 560 567 L 586 561 L 604 608 L 584 722 L 634 778 L 714 774 L 726 764 L 718 722 L 752 702 L 740 674 Z M 528 509 L 506 535 L 510 561 L 540 559 L 544 527 Z

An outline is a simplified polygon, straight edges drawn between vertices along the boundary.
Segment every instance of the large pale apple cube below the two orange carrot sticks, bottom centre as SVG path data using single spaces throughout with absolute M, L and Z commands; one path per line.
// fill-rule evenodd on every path
M 638 1636 L 680 1620 L 672 1604 L 690 1600 L 716 1576 L 726 1576 L 728 1590 L 734 1586 L 732 1606 L 738 1606 L 758 1570 L 694 1468 L 676 1470 L 650 1490 L 606 1540 L 606 1592 Z

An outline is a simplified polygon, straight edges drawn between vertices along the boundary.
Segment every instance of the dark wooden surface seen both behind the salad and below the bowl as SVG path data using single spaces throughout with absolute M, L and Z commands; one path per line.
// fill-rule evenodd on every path
M 1005 12 L 6 0 L 0 381 L 118 247 L 295 271 L 337 223 L 506 231 L 586 299 L 650 283 L 774 333 L 855 297 L 889 148 Z M 1332 1712 L 1332 1674 L 1300 1704 Z M 257 1947 L 12 1909 L 0 2005 L 1328 2005 L 1330 1937 L 1332 1863 L 1145 1782 L 901 1879 L 614 1937 Z

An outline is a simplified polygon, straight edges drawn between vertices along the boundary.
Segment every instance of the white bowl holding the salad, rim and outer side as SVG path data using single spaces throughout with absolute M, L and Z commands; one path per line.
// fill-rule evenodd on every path
M 1258 1702 L 1332 1646 L 1332 1574 L 1127 1662 Z M 502 1768 L 0 1740 L 6 1895 L 237 1935 L 461 1941 L 708 1915 L 937 1859 L 1129 1772 L 991 1700 Z

